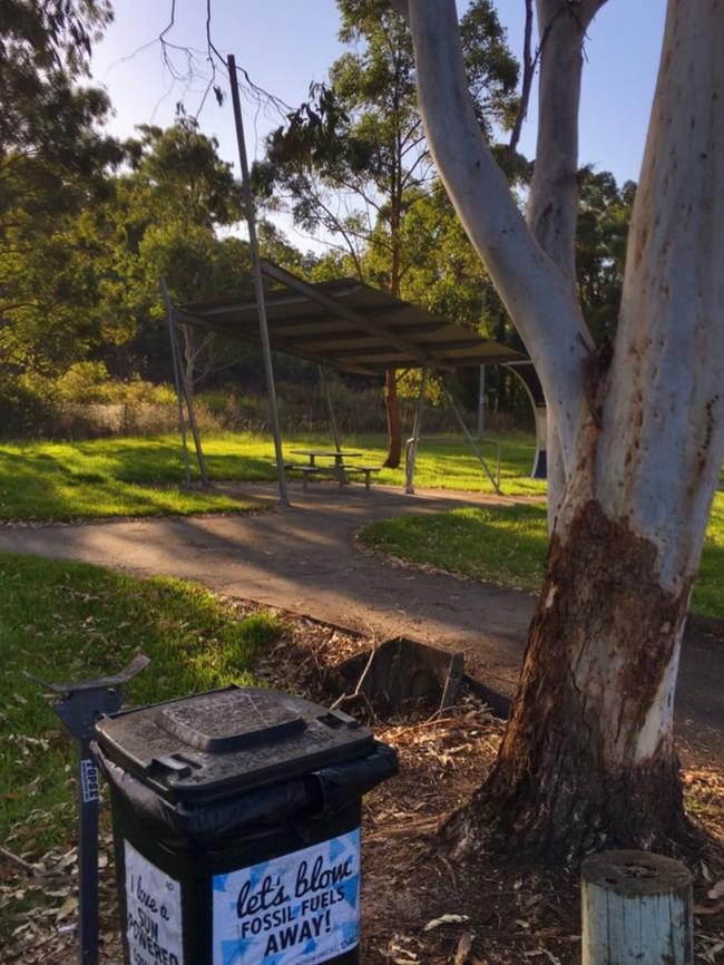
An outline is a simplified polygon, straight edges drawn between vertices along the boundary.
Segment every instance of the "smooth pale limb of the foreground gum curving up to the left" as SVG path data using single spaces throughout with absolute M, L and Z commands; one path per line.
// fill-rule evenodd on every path
M 410 26 L 428 143 L 458 215 L 526 343 L 574 464 L 591 347 L 569 279 L 527 227 L 476 117 L 454 0 L 415 0 Z

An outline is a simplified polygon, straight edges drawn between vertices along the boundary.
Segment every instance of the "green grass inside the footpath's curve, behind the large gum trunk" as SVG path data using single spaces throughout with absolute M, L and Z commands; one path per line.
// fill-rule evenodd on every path
M 373 548 L 473 579 L 535 591 L 546 547 L 544 506 L 490 506 L 384 519 L 360 533 Z M 714 497 L 692 611 L 724 620 L 724 493 Z

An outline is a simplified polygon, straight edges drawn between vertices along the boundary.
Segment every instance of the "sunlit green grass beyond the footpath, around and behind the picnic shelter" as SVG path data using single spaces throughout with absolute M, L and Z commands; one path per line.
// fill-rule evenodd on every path
M 502 487 L 507 494 L 545 493 L 545 482 L 527 478 L 534 446 L 526 436 L 502 440 Z M 296 436 L 285 442 L 286 457 L 304 462 L 291 450 L 330 446 L 324 436 Z M 346 438 L 359 449 L 363 465 L 381 465 L 381 436 Z M 214 433 L 204 438 L 212 479 L 272 480 L 271 438 Z M 490 447 L 486 452 L 492 455 Z M 403 469 L 384 469 L 378 481 L 402 486 Z M 0 443 L 0 520 L 58 520 L 112 516 L 187 515 L 255 508 L 226 495 L 180 490 L 183 464 L 178 439 L 95 439 L 85 442 Z M 418 457 L 417 485 L 447 489 L 492 491 L 482 469 L 462 443 L 423 442 Z

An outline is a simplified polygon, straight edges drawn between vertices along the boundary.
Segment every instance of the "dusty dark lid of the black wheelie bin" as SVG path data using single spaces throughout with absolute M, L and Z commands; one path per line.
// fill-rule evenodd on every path
M 104 752 L 162 797 L 203 803 L 371 752 L 366 728 L 281 691 L 223 690 L 101 718 Z

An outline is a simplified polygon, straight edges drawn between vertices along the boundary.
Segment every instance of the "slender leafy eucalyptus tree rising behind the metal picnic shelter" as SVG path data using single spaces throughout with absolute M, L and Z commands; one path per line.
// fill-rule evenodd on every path
M 340 38 L 351 49 L 330 69 L 329 85 L 268 139 L 257 182 L 288 199 L 305 230 L 331 233 L 358 276 L 374 254 L 375 280 L 401 292 L 404 221 L 431 184 L 430 158 L 415 105 L 414 60 L 404 21 L 387 0 L 337 0 Z M 467 67 L 480 123 L 512 123 L 518 67 L 490 0 L 473 0 L 462 20 Z M 384 265 L 384 271 L 380 271 Z M 397 377 L 385 379 L 388 466 L 401 451 Z

